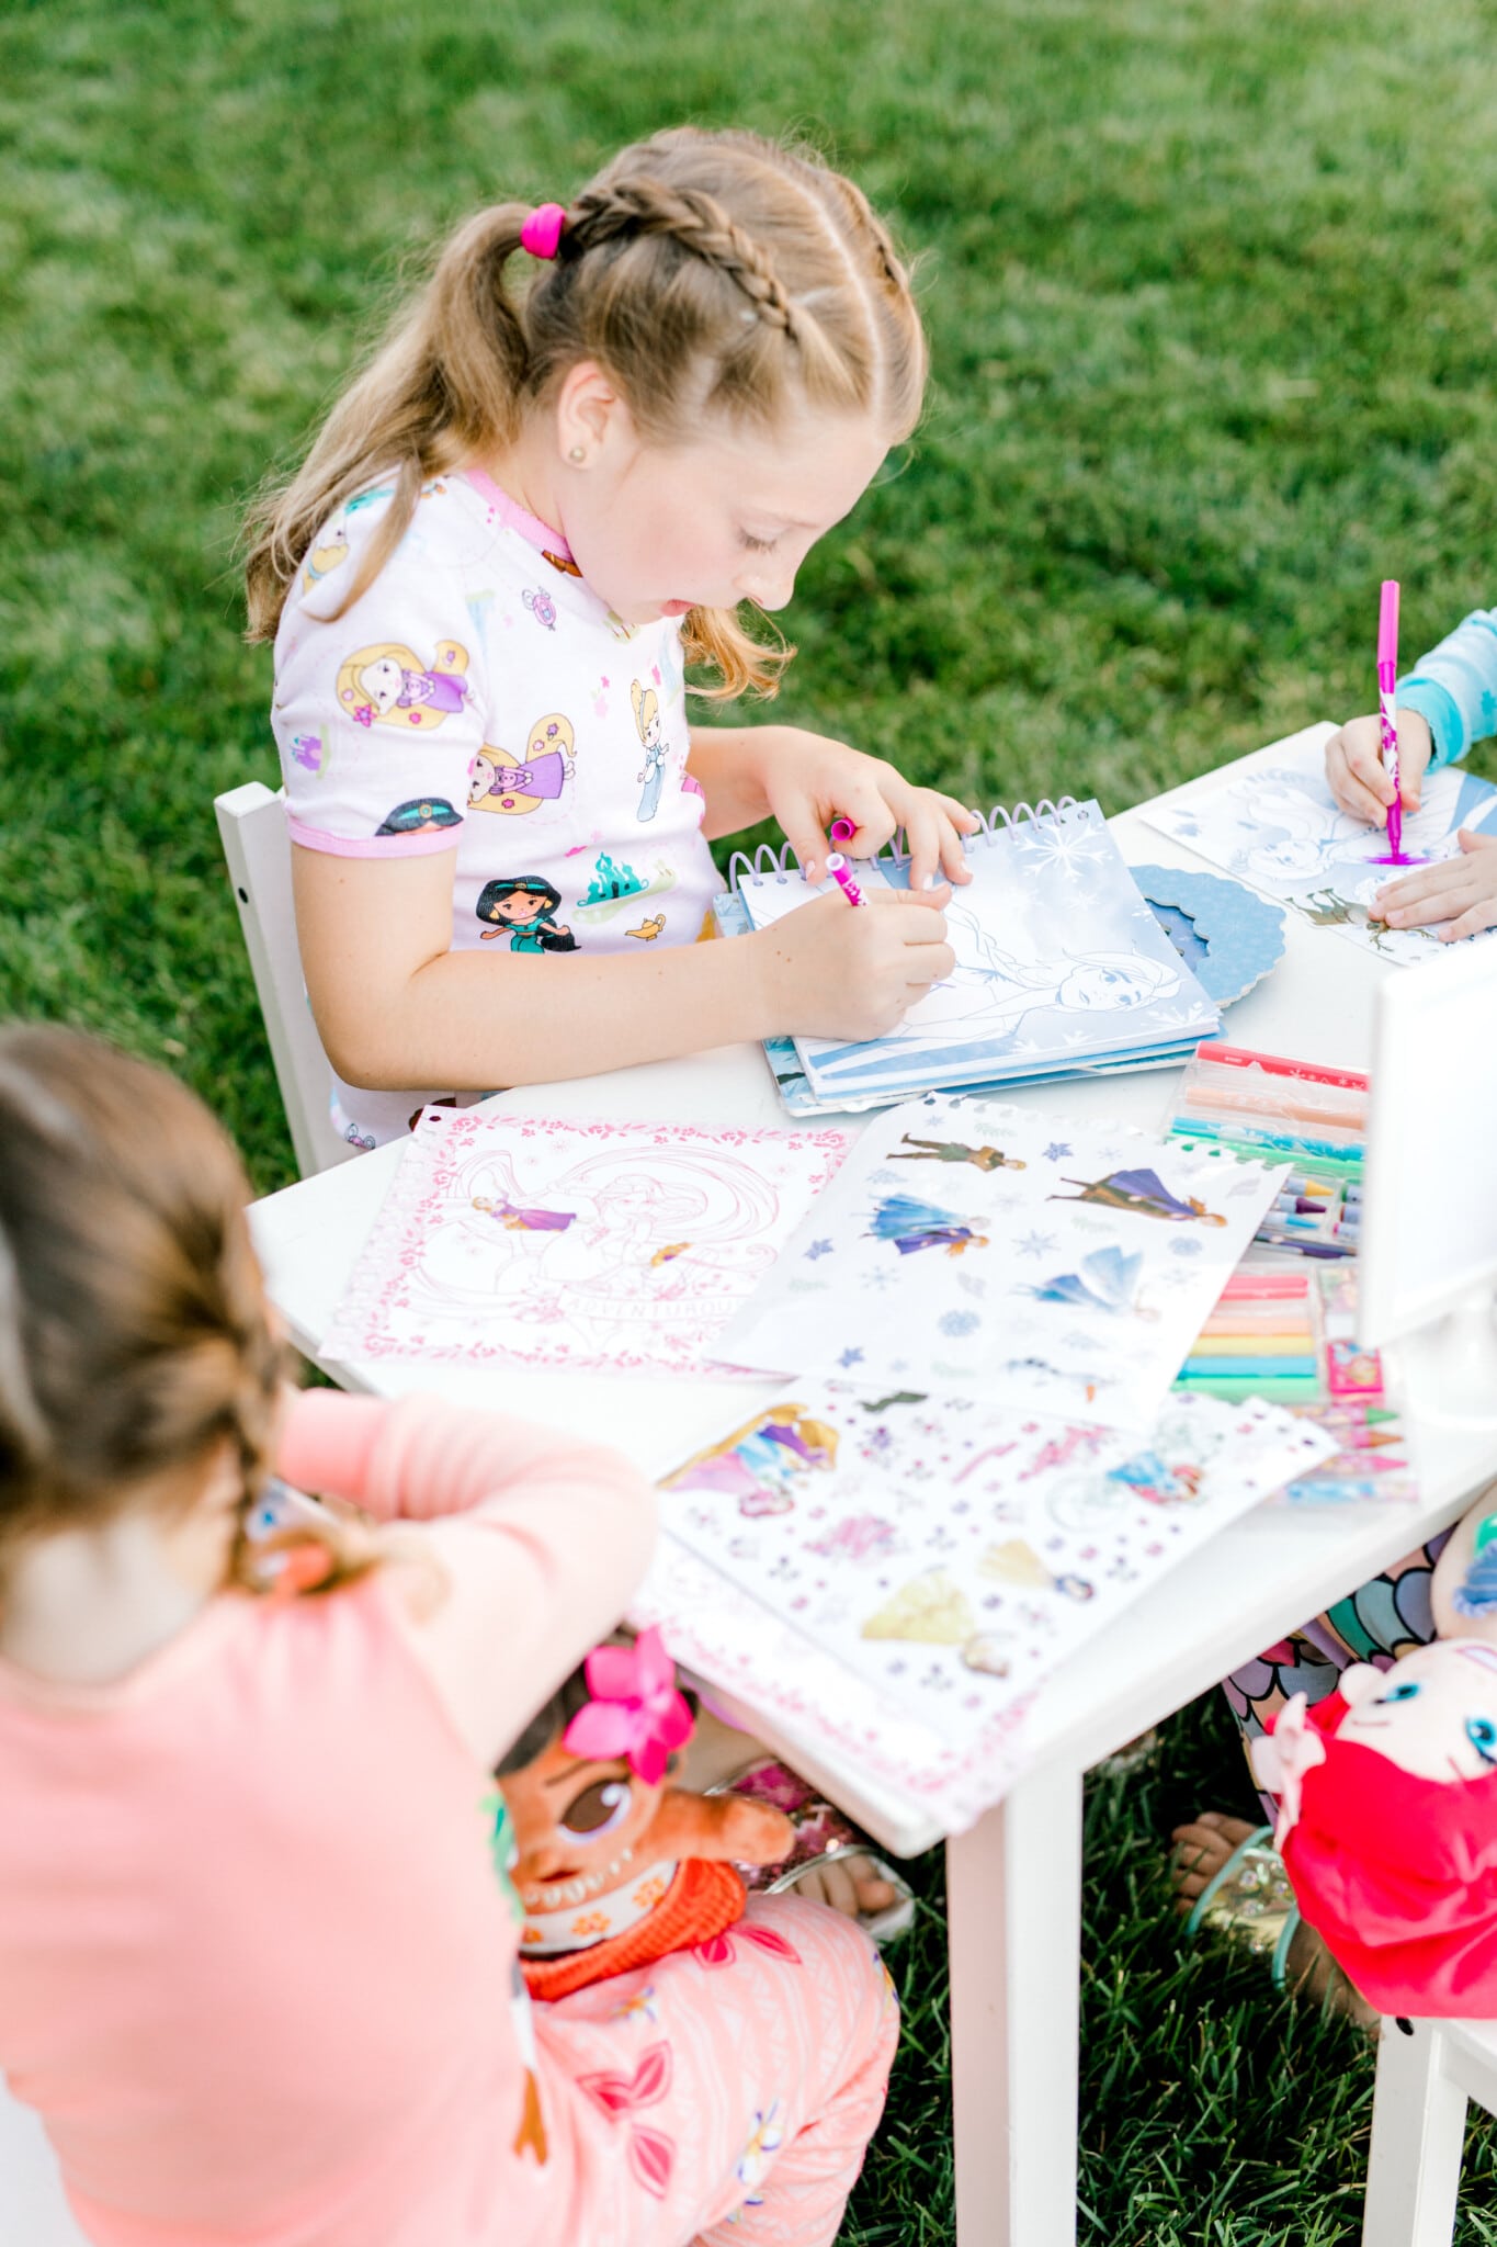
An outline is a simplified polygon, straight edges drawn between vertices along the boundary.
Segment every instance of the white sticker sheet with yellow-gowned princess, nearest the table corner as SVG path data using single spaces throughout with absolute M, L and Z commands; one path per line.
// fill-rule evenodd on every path
M 1333 1449 L 1172 1398 L 1147 1438 L 801 1382 L 664 1479 L 671 1537 L 970 1750 L 1192 1546 Z

